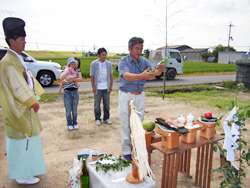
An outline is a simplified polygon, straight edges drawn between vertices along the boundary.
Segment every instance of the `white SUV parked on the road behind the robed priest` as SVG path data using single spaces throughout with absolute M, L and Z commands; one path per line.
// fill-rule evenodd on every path
M 7 53 L 7 49 L 0 47 L 0 60 Z M 25 52 L 21 52 L 21 56 L 26 66 L 43 87 L 49 87 L 54 80 L 59 80 L 61 75 L 61 65 L 54 62 L 38 61 Z

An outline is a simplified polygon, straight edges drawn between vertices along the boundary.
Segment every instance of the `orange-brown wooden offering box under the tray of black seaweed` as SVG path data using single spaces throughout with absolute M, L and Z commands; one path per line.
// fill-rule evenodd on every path
M 179 147 L 180 134 L 177 132 L 169 133 L 163 131 L 160 127 L 157 128 L 157 132 L 162 135 L 161 145 L 165 148 L 171 149 Z

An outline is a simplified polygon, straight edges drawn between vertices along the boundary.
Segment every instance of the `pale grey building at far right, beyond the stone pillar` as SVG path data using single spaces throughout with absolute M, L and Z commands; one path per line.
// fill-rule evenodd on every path
M 247 52 L 235 52 L 235 51 L 219 51 L 218 63 L 235 63 L 240 58 L 250 58 L 250 53 Z

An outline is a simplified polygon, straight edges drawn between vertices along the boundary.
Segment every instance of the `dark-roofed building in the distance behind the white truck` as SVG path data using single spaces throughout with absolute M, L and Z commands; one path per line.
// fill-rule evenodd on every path
M 208 48 L 191 48 L 187 45 L 174 45 L 168 46 L 169 49 L 179 50 L 184 61 L 204 61 L 201 54 L 208 51 Z M 157 48 L 157 50 L 163 50 L 164 47 Z

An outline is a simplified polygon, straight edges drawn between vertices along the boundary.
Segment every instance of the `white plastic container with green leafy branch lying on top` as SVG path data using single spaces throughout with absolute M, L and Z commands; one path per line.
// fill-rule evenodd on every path
M 128 174 L 132 173 L 132 165 L 124 168 L 122 171 L 109 170 L 105 173 L 103 170 L 96 172 L 96 165 L 89 163 L 89 178 L 91 188 L 153 188 L 156 186 L 154 180 L 151 180 L 148 176 L 145 181 L 139 184 L 131 184 L 126 181 Z

